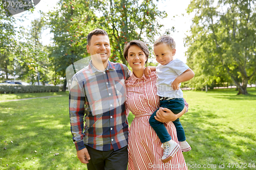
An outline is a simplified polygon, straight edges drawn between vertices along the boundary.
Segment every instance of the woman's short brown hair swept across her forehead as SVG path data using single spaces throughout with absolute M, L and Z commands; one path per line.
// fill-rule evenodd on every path
M 137 45 L 138 47 L 140 47 L 140 49 L 145 53 L 146 55 L 146 62 L 148 59 L 148 56 L 150 56 L 150 50 L 148 50 L 147 45 L 145 44 L 145 42 L 140 41 L 140 40 L 132 40 L 128 43 L 126 43 L 124 45 L 124 50 L 123 50 L 123 57 L 125 58 L 125 60 L 127 61 L 127 56 L 128 56 L 128 50 L 132 45 Z M 146 63 L 145 62 L 145 63 Z

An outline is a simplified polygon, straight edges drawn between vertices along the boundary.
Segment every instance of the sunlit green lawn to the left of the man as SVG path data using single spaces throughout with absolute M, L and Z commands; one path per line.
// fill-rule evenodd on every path
M 0 117 L 0 169 L 86 167 L 76 157 L 68 95 L 0 103 Z

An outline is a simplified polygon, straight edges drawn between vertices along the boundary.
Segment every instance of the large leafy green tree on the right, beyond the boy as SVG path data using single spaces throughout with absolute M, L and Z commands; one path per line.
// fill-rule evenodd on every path
M 195 17 L 186 38 L 188 64 L 206 76 L 227 74 L 238 94 L 248 94 L 256 72 L 255 10 L 251 0 L 191 1 L 187 12 Z

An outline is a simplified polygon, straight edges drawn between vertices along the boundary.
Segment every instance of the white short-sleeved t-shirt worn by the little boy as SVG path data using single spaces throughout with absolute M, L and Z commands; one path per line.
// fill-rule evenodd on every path
M 183 92 L 172 88 L 173 81 L 189 67 L 179 59 L 170 61 L 166 65 L 158 64 L 157 74 L 157 95 L 166 98 L 183 98 Z M 179 86 L 181 83 L 179 84 Z

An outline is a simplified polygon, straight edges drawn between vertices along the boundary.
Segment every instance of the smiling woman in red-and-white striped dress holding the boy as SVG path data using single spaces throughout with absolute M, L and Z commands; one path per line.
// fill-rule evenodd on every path
M 127 98 L 126 113 L 129 110 L 135 114 L 129 131 L 129 165 L 128 169 L 187 169 L 181 150 L 168 163 L 163 163 L 161 157 L 163 149 L 161 142 L 153 128 L 148 123 L 150 115 L 159 107 L 159 97 L 156 95 L 156 72 L 146 78 L 144 75 L 145 63 L 149 56 L 148 47 L 139 40 L 133 40 L 125 45 L 124 58 L 133 69 L 131 77 L 125 81 Z M 185 102 L 186 107 L 188 106 Z M 184 114 L 174 114 L 168 109 L 158 111 L 157 118 L 166 122 L 159 114 L 170 116 L 166 129 L 173 140 L 178 142 L 176 128 L 173 121 Z M 172 117 L 173 116 L 173 117 Z

